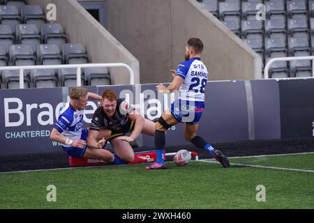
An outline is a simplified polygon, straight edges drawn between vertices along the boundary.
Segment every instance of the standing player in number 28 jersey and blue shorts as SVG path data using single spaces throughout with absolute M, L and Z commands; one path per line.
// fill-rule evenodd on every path
M 179 98 L 174 100 L 170 109 L 160 116 L 156 123 L 155 146 L 157 150 L 156 162 L 146 169 L 165 169 L 165 132 L 177 123 L 185 123 L 184 137 L 198 148 L 209 151 L 223 167 L 230 167 L 229 160 L 220 151 L 207 143 L 196 134 L 200 118 L 204 111 L 205 86 L 209 73 L 202 63 L 200 56 L 203 43 L 199 38 L 190 38 L 186 45 L 186 61 L 179 63 L 169 86 L 158 84 L 156 89 L 159 93 L 172 93 L 179 91 Z

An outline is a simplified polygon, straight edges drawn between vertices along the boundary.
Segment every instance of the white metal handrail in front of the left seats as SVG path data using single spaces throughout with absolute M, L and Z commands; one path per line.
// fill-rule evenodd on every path
M 83 64 L 62 64 L 62 65 L 40 65 L 40 66 L 7 66 L 0 67 L 0 70 L 20 70 L 20 89 L 24 89 L 24 70 L 40 70 L 40 69 L 62 69 L 62 68 L 77 68 L 76 81 L 77 86 L 82 86 L 81 83 L 81 68 L 126 68 L 130 74 L 130 84 L 135 83 L 134 72 L 126 63 L 83 63 Z

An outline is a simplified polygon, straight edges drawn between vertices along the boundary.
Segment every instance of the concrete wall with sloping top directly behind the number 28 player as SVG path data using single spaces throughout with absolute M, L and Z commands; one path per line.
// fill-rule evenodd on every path
M 262 59 L 196 0 L 107 0 L 108 30 L 140 61 L 140 82 L 170 82 L 200 37 L 211 80 L 261 79 Z

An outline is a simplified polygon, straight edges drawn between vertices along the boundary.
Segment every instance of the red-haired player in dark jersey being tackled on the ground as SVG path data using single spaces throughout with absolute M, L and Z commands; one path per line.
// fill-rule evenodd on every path
M 130 142 L 140 133 L 154 136 L 155 123 L 143 118 L 136 109 L 126 101 L 117 98 L 114 91 L 105 90 L 102 95 L 101 106 L 96 109 L 89 126 L 87 144 L 91 148 L 99 148 L 96 141 L 100 129 L 108 130 L 109 141 L 116 155 L 114 163 L 127 163 L 134 160 L 134 151 Z M 126 133 L 130 132 L 130 136 Z

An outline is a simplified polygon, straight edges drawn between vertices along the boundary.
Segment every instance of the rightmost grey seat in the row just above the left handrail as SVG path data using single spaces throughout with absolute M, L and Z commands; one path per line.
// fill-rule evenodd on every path
M 63 62 L 67 64 L 89 63 L 84 46 L 80 43 L 66 43 L 62 45 Z

